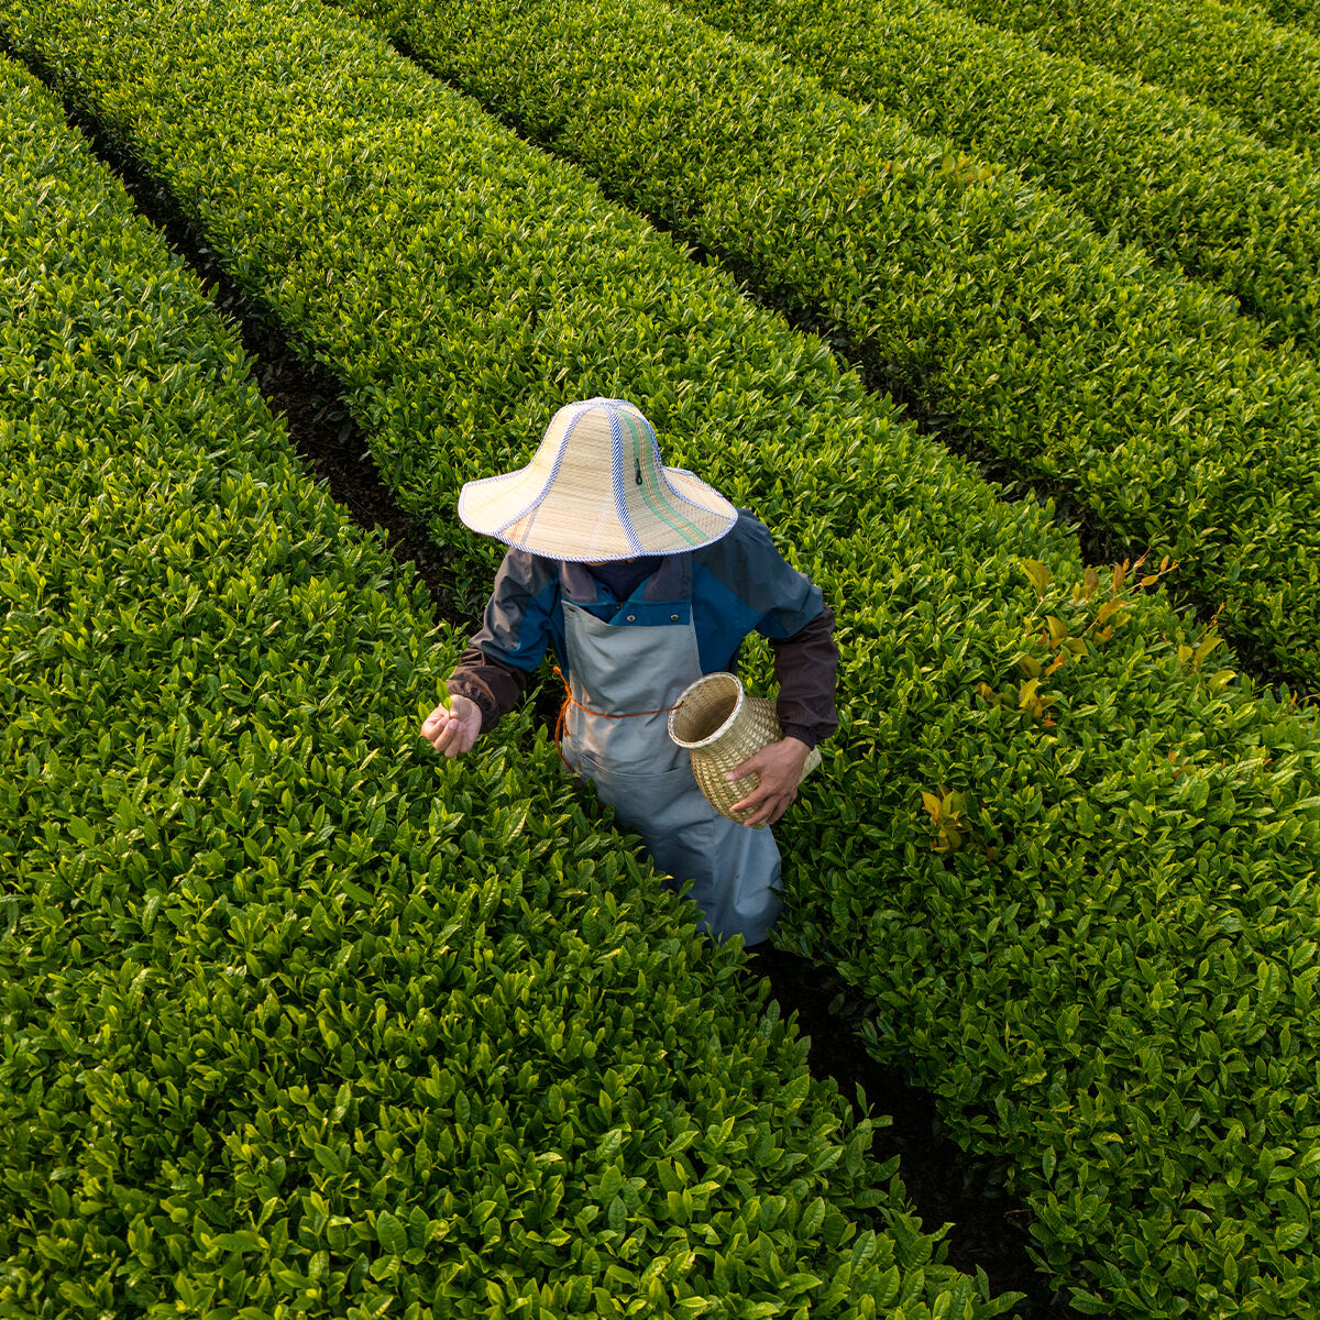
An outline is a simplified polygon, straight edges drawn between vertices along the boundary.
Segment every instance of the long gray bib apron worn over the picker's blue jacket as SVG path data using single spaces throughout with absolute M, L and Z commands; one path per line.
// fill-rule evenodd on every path
M 630 626 L 564 601 L 564 627 L 578 702 L 565 726 L 569 763 L 642 836 L 661 871 L 696 882 L 689 898 L 715 939 L 760 944 L 780 908 L 775 838 L 721 816 L 697 787 L 688 752 L 669 738 L 667 708 L 701 677 L 690 611 L 684 623 Z

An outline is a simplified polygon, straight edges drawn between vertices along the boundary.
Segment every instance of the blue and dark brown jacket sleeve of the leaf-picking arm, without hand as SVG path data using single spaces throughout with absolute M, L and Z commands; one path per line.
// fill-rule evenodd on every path
M 477 702 L 483 734 L 523 700 L 550 644 L 557 605 L 554 566 L 511 549 L 495 576 L 480 631 L 458 657 L 447 684 L 450 694 Z

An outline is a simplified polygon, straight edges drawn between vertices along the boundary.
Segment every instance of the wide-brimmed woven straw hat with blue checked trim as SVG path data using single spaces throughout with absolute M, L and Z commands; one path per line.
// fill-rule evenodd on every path
M 709 545 L 738 510 L 692 473 L 665 467 L 632 404 L 586 399 L 550 418 L 527 467 L 467 482 L 458 516 L 533 554 L 601 562 Z

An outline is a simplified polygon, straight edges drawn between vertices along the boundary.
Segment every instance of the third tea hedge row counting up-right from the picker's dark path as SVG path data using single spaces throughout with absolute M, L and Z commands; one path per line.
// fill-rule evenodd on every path
M 833 91 L 1067 194 L 1101 232 L 1234 294 L 1320 351 L 1320 176 L 1214 111 L 933 0 L 680 0 Z

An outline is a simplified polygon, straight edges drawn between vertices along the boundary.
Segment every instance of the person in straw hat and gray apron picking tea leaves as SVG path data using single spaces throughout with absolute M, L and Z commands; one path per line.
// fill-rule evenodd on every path
M 766 940 L 780 911 L 774 834 L 810 748 L 834 731 L 838 649 L 820 590 L 747 510 L 692 473 L 665 467 L 651 424 L 622 399 L 561 408 L 532 461 L 467 482 L 462 521 L 510 546 L 480 631 L 422 737 L 473 748 L 521 700 L 552 649 L 566 675 L 565 762 L 642 836 L 718 940 Z M 781 741 L 735 767 L 759 787 L 721 816 L 668 734 L 668 710 L 705 673 L 733 671 L 752 631 L 775 657 Z

